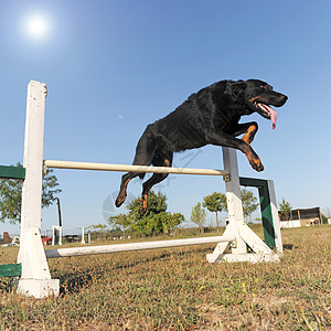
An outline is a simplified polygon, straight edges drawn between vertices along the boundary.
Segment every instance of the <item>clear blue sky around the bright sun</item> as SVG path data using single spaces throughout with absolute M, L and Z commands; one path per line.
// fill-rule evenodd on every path
M 26 19 L 49 23 L 43 39 Z M 131 163 L 147 124 L 222 79 L 259 78 L 289 96 L 275 131 L 258 115 L 253 147 L 265 171 L 238 154 L 241 175 L 273 179 L 277 200 L 331 206 L 330 1 L 0 1 L 0 164 L 23 160 L 26 86 L 47 84 L 44 159 Z M 175 156 L 177 167 L 222 169 L 221 149 Z M 121 173 L 56 170 L 64 227 L 105 223 Z M 222 178 L 172 175 L 156 186 L 190 218 Z M 141 183 L 130 183 L 129 196 Z M 209 220 L 214 218 L 209 215 Z M 42 228 L 57 224 L 55 205 Z M 19 226 L 0 224 L 18 233 Z

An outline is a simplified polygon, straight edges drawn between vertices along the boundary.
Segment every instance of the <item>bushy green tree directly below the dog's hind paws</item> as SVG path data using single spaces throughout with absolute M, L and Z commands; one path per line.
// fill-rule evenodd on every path
M 130 229 L 138 235 L 166 233 L 184 221 L 181 214 L 166 212 L 167 196 L 160 192 L 156 194 L 151 191 L 148 194 L 148 207 L 143 215 L 140 213 L 140 199 L 130 201 L 127 209 L 131 218 Z

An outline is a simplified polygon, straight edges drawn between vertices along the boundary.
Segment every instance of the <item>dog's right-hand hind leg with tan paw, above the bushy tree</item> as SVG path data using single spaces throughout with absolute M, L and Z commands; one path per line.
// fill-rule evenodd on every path
M 162 157 L 160 152 L 154 154 L 152 164 L 156 167 L 171 167 L 172 164 L 172 153 L 169 153 L 167 157 Z M 140 213 L 143 214 L 147 211 L 148 193 L 151 188 L 161 181 L 163 181 L 169 173 L 153 173 L 153 175 L 142 184 L 142 194 L 141 194 L 141 205 Z

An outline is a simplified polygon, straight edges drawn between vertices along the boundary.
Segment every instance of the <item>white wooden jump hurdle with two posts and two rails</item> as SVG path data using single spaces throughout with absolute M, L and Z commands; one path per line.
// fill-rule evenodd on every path
M 282 244 L 274 183 L 265 180 L 253 184 L 246 182 L 247 185 L 259 188 L 260 199 L 265 200 L 267 213 L 264 223 L 265 237 L 266 234 L 269 236 L 268 245 L 275 247 L 278 254 L 244 223 L 237 158 L 234 149 L 222 148 L 224 170 L 43 161 L 46 92 L 46 85 L 40 82 L 31 81 L 28 86 L 23 161 L 25 179 L 22 189 L 21 244 L 18 256 L 18 264 L 21 264 L 22 271 L 21 277 L 14 279 L 18 292 L 35 298 L 58 295 L 60 280 L 52 279 L 46 258 L 217 243 L 214 252 L 206 256 L 209 263 L 279 260 L 278 254 L 282 252 Z M 226 185 L 228 224 L 222 236 L 44 250 L 40 234 L 42 172 L 49 168 L 222 175 Z M 247 253 L 247 246 L 253 253 Z

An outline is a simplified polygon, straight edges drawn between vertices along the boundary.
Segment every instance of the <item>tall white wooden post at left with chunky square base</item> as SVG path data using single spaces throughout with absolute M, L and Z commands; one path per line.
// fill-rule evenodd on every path
M 20 293 L 43 298 L 57 295 L 60 281 L 52 279 L 41 241 L 42 164 L 46 85 L 31 81 L 28 86 L 24 137 L 25 180 L 22 189 L 21 236 L 18 263 L 21 278 L 14 279 Z

